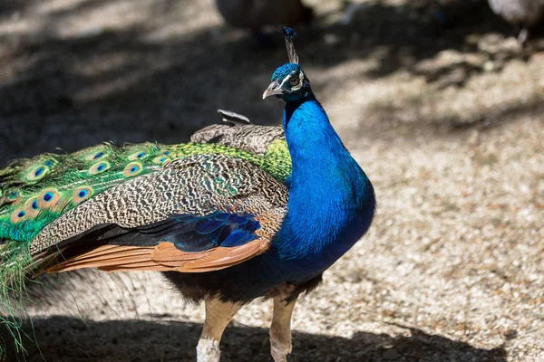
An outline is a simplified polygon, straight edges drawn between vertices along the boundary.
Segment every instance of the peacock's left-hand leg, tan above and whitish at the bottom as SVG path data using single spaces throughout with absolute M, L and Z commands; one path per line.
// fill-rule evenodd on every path
M 219 362 L 219 342 L 228 323 L 238 312 L 238 303 L 206 300 L 206 321 L 197 346 L 198 362 Z

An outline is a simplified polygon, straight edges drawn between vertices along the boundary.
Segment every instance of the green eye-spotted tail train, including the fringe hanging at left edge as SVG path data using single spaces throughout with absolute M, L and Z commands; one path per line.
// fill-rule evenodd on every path
M 27 278 L 40 272 L 31 245 L 44 228 L 112 187 L 194 155 L 225 155 L 244 160 L 284 183 L 291 174 L 285 138 L 267 137 L 260 145 L 260 152 L 236 148 L 244 145 L 237 137 L 251 138 L 248 144 L 256 142 L 256 132 L 260 134 L 261 130 L 257 126 L 250 127 L 252 129 L 216 143 L 170 146 L 103 143 L 73 153 L 46 153 L 15 160 L 0 169 L 0 309 L 8 316 L 21 315 L 22 304 L 10 296 L 24 291 Z M 231 131 L 228 126 L 214 129 L 216 137 L 227 129 Z M 202 138 L 201 142 L 209 140 Z M 12 333 L 19 332 L 18 319 L 4 322 Z M 15 336 L 15 341 L 19 340 Z

